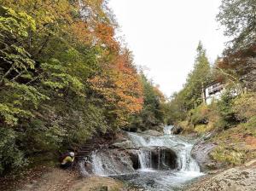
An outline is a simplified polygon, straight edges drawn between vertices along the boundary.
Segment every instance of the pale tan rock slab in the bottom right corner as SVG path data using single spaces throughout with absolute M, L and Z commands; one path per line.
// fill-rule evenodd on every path
M 189 191 L 254 191 L 256 190 L 256 166 L 236 167 L 214 177 L 195 183 Z

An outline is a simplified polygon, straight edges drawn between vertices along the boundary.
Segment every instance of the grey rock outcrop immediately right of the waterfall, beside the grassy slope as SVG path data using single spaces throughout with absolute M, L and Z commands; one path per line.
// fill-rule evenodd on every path
M 212 142 L 198 142 L 191 150 L 192 157 L 196 160 L 201 168 L 201 171 L 217 169 L 219 164 L 212 160 L 209 153 L 216 148 L 217 144 Z

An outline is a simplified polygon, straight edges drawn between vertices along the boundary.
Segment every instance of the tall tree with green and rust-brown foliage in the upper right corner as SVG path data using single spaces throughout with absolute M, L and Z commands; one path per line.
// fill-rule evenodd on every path
M 256 90 L 256 0 L 223 0 L 217 20 L 232 38 L 218 67 Z

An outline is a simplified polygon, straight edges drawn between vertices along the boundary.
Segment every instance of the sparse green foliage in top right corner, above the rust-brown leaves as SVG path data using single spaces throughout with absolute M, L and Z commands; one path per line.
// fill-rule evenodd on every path
M 234 38 L 232 45 L 235 49 L 243 49 L 255 43 L 255 9 L 255 0 L 222 1 L 217 19 L 221 25 L 225 26 L 224 34 Z

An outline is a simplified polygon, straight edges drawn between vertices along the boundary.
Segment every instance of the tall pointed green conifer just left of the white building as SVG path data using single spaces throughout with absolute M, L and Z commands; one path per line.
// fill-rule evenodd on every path
M 187 118 L 189 110 L 198 107 L 203 102 L 202 88 L 211 80 L 211 68 L 207 60 L 206 50 L 203 49 L 201 42 L 197 47 L 197 56 L 192 72 L 189 73 L 183 90 L 175 93 L 169 103 L 169 116 L 167 121 L 176 124 Z

